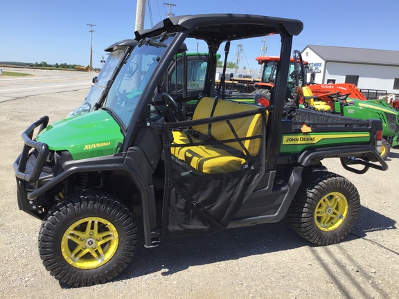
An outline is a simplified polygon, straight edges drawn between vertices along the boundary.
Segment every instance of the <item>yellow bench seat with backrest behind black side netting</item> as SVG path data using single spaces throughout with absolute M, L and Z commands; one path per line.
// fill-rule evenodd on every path
M 199 100 L 193 114 L 193 120 L 211 117 L 214 102 L 215 99 L 209 97 Z M 222 116 L 255 109 L 258 109 L 255 105 L 231 102 L 229 100 L 218 100 L 213 116 Z M 261 134 L 261 121 L 261 114 L 255 114 L 253 116 L 231 119 L 230 123 L 237 136 L 239 138 L 245 138 Z M 225 120 L 218 123 L 211 123 L 210 129 L 209 124 L 196 125 L 192 129 L 202 136 L 209 136 L 218 141 L 236 139 Z M 209 132 L 211 135 L 209 135 Z M 260 138 L 242 141 L 242 145 L 244 145 L 247 151 L 243 149 L 237 141 L 224 143 L 224 148 L 226 148 L 226 150 L 224 148 L 214 147 L 213 145 L 195 145 L 195 143 L 203 142 L 203 140 L 199 140 L 194 136 L 188 138 L 188 132 L 173 131 L 172 134 L 172 145 L 174 145 L 171 147 L 172 155 L 195 168 L 195 170 L 206 174 L 234 172 L 240 170 L 242 165 L 246 163 L 245 158 L 242 158 L 242 156 L 245 156 L 247 152 L 251 156 L 258 154 L 261 142 Z M 189 144 L 193 144 L 193 146 L 177 146 Z M 231 150 L 229 150 L 229 148 L 231 148 Z M 235 152 L 236 154 L 231 154 L 231 152 Z

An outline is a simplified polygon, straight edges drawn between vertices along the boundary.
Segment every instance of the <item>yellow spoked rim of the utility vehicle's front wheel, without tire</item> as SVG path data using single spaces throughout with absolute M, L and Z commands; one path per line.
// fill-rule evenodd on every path
M 64 259 L 79 269 L 95 269 L 112 259 L 118 249 L 118 231 L 99 217 L 87 217 L 73 223 L 62 236 Z

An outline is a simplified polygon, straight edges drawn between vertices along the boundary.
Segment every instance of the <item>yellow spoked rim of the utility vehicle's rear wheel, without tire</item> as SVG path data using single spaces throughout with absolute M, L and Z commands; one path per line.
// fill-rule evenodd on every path
M 331 231 L 339 228 L 348 215 L 348 201 L 344 194 L 331 192 L 317 203 L 314 223 L 320 230 Z

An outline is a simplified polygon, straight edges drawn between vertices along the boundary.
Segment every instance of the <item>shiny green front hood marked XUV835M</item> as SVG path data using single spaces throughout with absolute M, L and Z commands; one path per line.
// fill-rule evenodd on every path
M 123 134 L 114 118 L 98 110 L 49 125 L 37 141 L 55 151 L 67 150 L 79 160 L 115 153 L 118 143 L 123 143 Z

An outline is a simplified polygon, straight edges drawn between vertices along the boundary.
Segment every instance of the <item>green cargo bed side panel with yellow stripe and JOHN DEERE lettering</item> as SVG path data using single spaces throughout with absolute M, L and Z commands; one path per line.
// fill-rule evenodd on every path
M 369 132 L 295 133 L 283 134 L 280 154 L 301 153 L 314 147 L 369 144 Z

